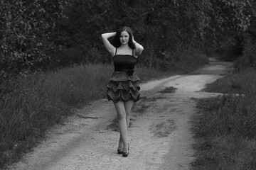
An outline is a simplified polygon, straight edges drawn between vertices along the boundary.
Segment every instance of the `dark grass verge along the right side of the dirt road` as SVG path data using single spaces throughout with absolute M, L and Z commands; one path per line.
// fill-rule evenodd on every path
M 206 86 L 225 95 L 198 100 L 192 169 L 256 169 L 255 79 L 256 70 L 247 69 Z

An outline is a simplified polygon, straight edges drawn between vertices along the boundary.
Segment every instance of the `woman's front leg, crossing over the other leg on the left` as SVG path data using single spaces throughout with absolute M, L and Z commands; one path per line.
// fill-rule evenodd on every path
M 117 118 L 118 118 L 118 126 L 120 132 L 119 138 L 119 149 L 123 148 L 124 152 L 128 152 L 128 144 L 127 144 L 127 121 L 126 121 L 126 111 L 124 108 L 124 102 L 119 101 L 114 103 L 114 107 L 117 111 Z

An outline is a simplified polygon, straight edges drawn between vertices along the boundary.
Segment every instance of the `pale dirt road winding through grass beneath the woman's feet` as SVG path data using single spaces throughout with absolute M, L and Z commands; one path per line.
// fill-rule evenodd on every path
M 189 169 L 194 159 L 189 123 L 196 112 L 193 98 L 218 95 L 201 89 L 231 69 L 230 63 L 211 60 L 197 72 L 142 84 L 144 98 L 132 110 L 127 158 L 117 154 L 119 133 L 110 128 L 116 118 L 114 106 L 101 99 L 75 111 L 65 125 L 48 132 L 48 140 L 10 168 Z M 166 87 L 171 88 L 163 91 Z

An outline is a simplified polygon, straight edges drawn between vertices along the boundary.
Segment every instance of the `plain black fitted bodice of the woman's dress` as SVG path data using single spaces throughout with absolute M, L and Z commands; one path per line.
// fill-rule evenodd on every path
M 137 58 L 133 55 L 114 55 L 113 62 L 115 72 L 127 72 L 134 70 Z

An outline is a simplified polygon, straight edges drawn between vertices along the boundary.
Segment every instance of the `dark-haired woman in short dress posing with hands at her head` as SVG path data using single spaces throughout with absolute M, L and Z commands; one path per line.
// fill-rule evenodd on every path
M 139 78 L 134 73 L 134 65 L 144 48 L 134 40 L 132 29 L 129 27 L 122 27 L 115 33 L 103 33 L 101 37 L 114 62 L 114 73 L 107 85 L 107 98 L 114 102 L 117 111 L 120 132 L 117 153 L 128 157 L 129 114 L 133 103 L 140 98 Z M 112 37 L 114 39 L 110 43 L 108 39 Z

